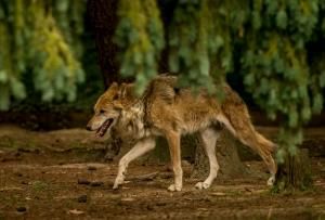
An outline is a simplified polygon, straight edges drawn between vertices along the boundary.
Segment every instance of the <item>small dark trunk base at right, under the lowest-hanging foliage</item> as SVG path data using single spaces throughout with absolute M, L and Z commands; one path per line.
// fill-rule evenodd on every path
M 308 150 L 302 148 L 295 156 L 287 155 L 278 165 L 274 192 L 304 191 L 312 185 L 311 165 Z

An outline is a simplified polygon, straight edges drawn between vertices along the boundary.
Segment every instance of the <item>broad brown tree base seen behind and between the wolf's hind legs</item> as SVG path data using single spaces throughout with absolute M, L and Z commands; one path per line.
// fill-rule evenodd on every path
M 206 178 L 209 173 L 209 160 L 202 146 L 202 141 L 196 139 L 196 153 L 192 177 Z M 236 141 L 229 131 L 223 129 L 216 144 L 217 159 L 220 166 L 218 177 L 231 178 L 247 174 L 248 171 L 245 165 L 240 161 L 236 145 Z

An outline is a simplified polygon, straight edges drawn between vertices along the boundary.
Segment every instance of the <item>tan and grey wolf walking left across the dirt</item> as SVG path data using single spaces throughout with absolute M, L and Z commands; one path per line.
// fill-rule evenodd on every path
M 257 152 L 275 181 L 276 164 L 272 153 L 277 145 L 257 132 L 251 124 L 246 104 L 230 86 L 219 89 L 223 99 L 200 89 L 194 94 L 190 88 L 179 88 L 177 76 L 159 75 L 146 87 L 141 96 L 134 93 L 134 83 L 113 82 L 94 105 L 94 115 L 87 129 L 103 137 L 109 133 L 122 140 L 130 140 L 134 146 L 119 160 L 118 173 L 113 189 L 123 183 L 128 165 L 155 147 L 158 135 L 166 138 L 169 146 L 173 183 L 169 191 L 181 191 L 183 171 L 181 167 L 181 135 L 197 132 L 203 140 L 209 159 L 209 176 L 196 183 L 197 189 L 208 189 L 219 170 L 216 157 L 216 142 L 220 125 L 236 139 Z

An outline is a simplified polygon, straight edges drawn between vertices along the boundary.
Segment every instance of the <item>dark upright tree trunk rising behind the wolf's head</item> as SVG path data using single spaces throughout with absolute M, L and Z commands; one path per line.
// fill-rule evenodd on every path
M 95 36 L 102 76 L 105 88 L 113 81 L 120 82 L 119 65 L 116 61 L 117 46 L 113 43 L 114 31 L 118 22 L 118 0 L 88 0 L 87 13 Z

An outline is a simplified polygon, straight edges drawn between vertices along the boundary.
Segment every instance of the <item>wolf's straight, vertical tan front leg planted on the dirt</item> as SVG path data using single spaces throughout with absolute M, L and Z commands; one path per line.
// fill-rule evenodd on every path
M 181 135 L 178 132 L 169 131 L 166 134 L 166 139 L 169 145 L 172 170 L 174 174 L 174 183 L 171 184 L 168 190 L 181 191 L 183 187 L 183 170 L 181 166 Z

